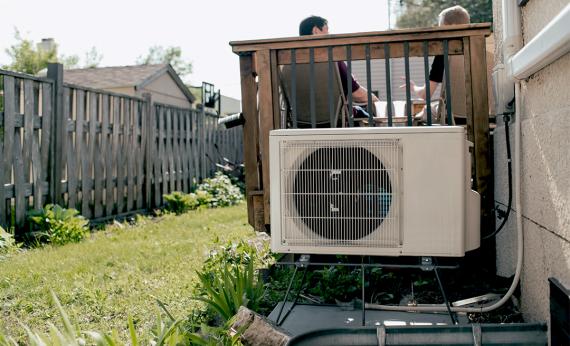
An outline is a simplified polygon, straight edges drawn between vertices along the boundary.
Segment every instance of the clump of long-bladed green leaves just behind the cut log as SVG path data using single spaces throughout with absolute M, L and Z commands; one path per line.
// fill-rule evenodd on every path
M 204 296 L 195 297 L 208 304 L 224 321 L 234 316 L 240 306 L 253 310 L 264 295 L 264 286 L 255 276 L 253 261 L 245 266 L 226 263 L 222 275 L 198 272 Z

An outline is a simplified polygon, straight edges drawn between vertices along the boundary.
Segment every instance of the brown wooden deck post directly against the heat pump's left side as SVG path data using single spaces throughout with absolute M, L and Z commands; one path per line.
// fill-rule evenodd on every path
M 269 131 L 273 124 L 273 90 L 271 81 L 271 58 L 268 50 L 257 52 L 257 72 L 259 75 L 259 151 L 263 177 L 263 217 L 270 224 L 269 215 Z

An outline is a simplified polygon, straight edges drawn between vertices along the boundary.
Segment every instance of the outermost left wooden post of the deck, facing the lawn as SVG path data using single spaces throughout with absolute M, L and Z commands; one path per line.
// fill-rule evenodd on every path
M 253 197 L 251 191 L 261 188 L 258 169 L 257 153 L 259 138 L 259 121 L 257 114 L 257 85 L 255 82 L 255 66 L 252 55 L 241 55 L 240 78 L 241 78 L 241 104 L 245 118 L 243 125 L 243 150 L 245 163 L 245 186 L 247 199 L 247 219 L 251 226 L 255 226 L 255 215 L 253 210 Z M 257 231 L 259 229 L 256 228 Z

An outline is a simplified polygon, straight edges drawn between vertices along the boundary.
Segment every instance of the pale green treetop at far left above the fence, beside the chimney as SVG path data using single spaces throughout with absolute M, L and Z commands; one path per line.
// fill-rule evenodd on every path
M 92 47 L 85 55 L 85 64 L 80 65 L 80 59 L 77 55 L 58 55 L 58 47 L 54 44 L 50 49 L 44 49 L 36 46 L 34 41 L 25 38 L 20 31 L 16 29 L 14 34 L 16 43 L 6 49 L 6 54 L 12 60 L 11 63 L 3 65 L 2 68 L 23 72 L 28 74 L 37 74 L 39 71 L 47 68 L 49 63 L 61 63 L 67 69 L 77 67 L 96 67 L 101 62 L 103 56 Z

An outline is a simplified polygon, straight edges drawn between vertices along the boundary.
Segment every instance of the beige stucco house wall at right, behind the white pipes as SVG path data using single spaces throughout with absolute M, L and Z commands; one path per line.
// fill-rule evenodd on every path
M 523 42 L 529 42 L 568 0 L 530 0 L 522 7 Z M 496 54 L 502 60 L 501 1 L 493 0 Z M 514 274 L 516 213 L 522 212 L 524 266 L 521 307 L 527 321 L 550 321 L 548 278 L 570 287 L 570 55 L 521 83 L 522 210 L 515 210 L 497 238 L 497 273 Z M 499 118 L 500 119 L 500 118 Z M 505 127 L 494 131 L 495 198 L 506 205 Z M 511 131 L 514 148 L 514 129 Z M 514 153 L 513 153 L 514 154 Z M 515 178 L 516 179 L 516 178 Z M 513 195 L 513 201 L 514 201 Z M 514 202 L 513 202 L 514 208 Z

